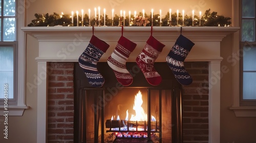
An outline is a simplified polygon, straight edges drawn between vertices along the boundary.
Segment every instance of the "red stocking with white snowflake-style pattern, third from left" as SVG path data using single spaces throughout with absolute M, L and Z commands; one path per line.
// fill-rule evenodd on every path
M 146 41 L 144 49 L 136 58 L 136 63 L 144 74 L 147 82 L 151 85 L 159 85 L 162 77 L 154 68 L 154 62 L 162 52 L 165 45 L 156 40 L 152 35 Z

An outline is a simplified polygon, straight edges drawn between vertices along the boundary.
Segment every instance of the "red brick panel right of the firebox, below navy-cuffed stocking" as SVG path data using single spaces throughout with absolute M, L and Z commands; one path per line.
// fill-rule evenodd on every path
M 193 83 L 183 86 L 183 142 L 208 142 L 208 62 L 186 62 Z

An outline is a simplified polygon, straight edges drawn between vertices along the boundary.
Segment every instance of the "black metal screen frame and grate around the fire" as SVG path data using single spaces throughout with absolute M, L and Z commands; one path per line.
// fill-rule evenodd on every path
M 123 87 L 123 88 L 138 88 L 138 87 Z M 152 90 L 159 90 L 159 105 L 162 105 L 162 90 L 171 90 L 172 91 L 172 142 L 183 142 L 182 138 L 182 94 L 181 94 L 181 88 L 179 87 L 141 87 L 141 88 L 147 88 L 147 121 L 151 121 L 151 91 Z M 79 87 L 79 109 L 78 109 L 78 142 L 86 142 L 87 140 L 87 119 L 86 119 L 86 107 L 87 107 L 87 91 L 94 91 L 94 105 L 98 105 L 99 101 L 98 98 L 101 97 L 104 100 L 104 93 L 106 88 L 93 88 L 93 87 Z M 85 101 L 85 102 L 84 102 Z M 161 107 L 161 106 L 160 106 Z M 101 120 L 101 142 L 104 142 L 104 106 L 102 107 L 95 107 L 94 110 L 94 142 L 99 142 L 99 120 Z M 99 116 L 100 114 L 100 116 Z M 129 121 L 127 122 L 129 124 Z M 156 122 L 157 123 L 157 122 Z M 136 122 L 137 124 L 137 122 Z M 137 125 L 136 125 L 137 126 Z M 156 129 L 155 131 L 152 130 L 146 130 L 144 128 L 144 131 L 129 131 L 129 128 L 127 131 L 121 131 L 120 127 L 119 130 L 111 130 L 111 122 L 110 122 L 110 129 L 106 132 L 144 132 L 147 133 L 147 138 L 136 138 L 136 139 L 147 139 L 147 142 L 151 142 L 151 133 L 159 133 L 159 142 L 162 142 L 162 108 L 159 108 L 159 129 Z M 144 127 L 146 127 L 146 124 L 144 122 Z M 157 126 L 156 126 L 157 127 Z M 151 129 L 151 122 L 147 122 L 147 129 Z M 116 137 L 116 139 L 135 139 L 135 138 L 127 138 L 127 137 Z M 116 140 L 115 139 L 115 140 Z M 115 142 L 115 141 L 114 141 Z

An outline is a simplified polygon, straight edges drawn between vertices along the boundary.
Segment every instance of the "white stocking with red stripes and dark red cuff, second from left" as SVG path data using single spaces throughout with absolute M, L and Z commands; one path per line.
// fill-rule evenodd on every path
M 121 36 L 114 52 L 108 58 L 108 64 L 113 69 L 117 81 L 123 86 L 128 86 L 133 82 L 133 77 L 126 69 L 125 63 L 136 45 L 136 43 Z

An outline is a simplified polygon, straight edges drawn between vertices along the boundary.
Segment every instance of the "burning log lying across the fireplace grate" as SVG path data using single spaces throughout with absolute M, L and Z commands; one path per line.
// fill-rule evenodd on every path
M 151 127 L 155 127 L 157 124 L 157 128 L 159 127 L 158 121 L 151 121 Z M 128 121 L 125 120 L 106 120 L 105 126 L 106 128 L 122 128 L 128 125 Z M 129 121 L 129 127 L 136 127 L 136 126 L 147 126 L 147 121 Z

